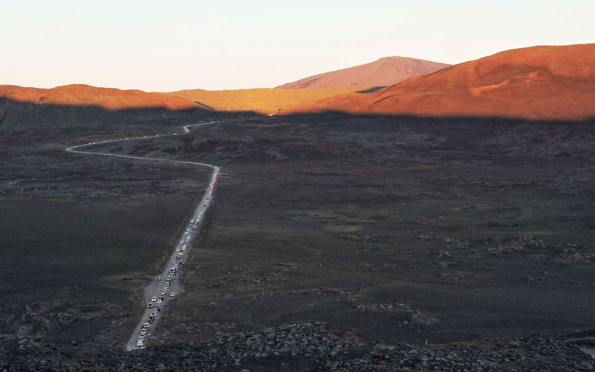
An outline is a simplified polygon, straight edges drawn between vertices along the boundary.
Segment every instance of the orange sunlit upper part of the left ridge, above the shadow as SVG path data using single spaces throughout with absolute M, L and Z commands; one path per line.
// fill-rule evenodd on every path
M 18 102 L 97 106 L 107 110 L 155 107 L 180 110 L 200 107 L 195 102 L 177 96 L 148 93 L 136 89 L 121 90 L 84 84 L 57 86 L 51 89 L 0 85 L 0 97 Z

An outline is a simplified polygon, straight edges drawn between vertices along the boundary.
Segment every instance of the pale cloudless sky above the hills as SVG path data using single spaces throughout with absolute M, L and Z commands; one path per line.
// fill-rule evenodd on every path
M 593 0 L 4 1 L 0 85 L 274 87 L 399 55 L 595 42 Z

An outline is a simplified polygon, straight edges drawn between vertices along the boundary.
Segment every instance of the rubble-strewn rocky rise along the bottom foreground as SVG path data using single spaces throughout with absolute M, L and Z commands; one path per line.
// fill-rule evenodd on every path
M 85 346 L 86 345 L 86 346 Z M 318 321 L 254 332 L 220 333 L 200 342 L 149 346 L 40 345 L 21 340 L 0 356 L 3 371 L 325 370 L 325 371 L 591 371 L 577 346 L 547 337 L 506 337 L 441 345 L 363 343 Z

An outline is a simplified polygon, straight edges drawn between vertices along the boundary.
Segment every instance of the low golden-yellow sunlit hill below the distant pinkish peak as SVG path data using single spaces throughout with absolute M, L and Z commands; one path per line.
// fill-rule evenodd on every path
M 386 85 L 385 85 L 386 86 Z M 278 108 L 299 105 L 303 102 L 334 96 L 340 93 L 360 92 L 369 89 L 365 86 L 333 86 L 310 89 L 235 89 L 204 90 L 185 89 L 162 93 L 179 96 L 188 101 L 197 102 L 203 107 L 214 110 L 255 110 L 269 113 Z

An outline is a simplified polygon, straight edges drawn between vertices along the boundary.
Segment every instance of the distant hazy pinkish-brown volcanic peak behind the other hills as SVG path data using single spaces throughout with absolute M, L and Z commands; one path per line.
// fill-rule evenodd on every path
M 275 88 L 302 89 L 328 86 L 388 86 L 410 76 L 433 73 L 449 64 L 408 57 L 384 57 L 367 64 L 318 74 Z

